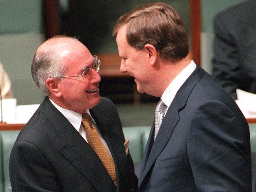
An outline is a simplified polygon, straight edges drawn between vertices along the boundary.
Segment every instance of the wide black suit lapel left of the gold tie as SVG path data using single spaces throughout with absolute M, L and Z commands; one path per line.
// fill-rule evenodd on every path
M 109 191 L 116 191 L 111 177 L 96 153 L 49 100 L 46 101 L 46 105 L 48 105 L 45 107 L 46 116 L 61 142 L 59 153 L 76 167 L 99 192 L 105 192 L 106 188 Z

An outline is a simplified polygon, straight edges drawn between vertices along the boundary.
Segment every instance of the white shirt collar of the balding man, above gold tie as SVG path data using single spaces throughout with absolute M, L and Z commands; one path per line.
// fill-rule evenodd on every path
M 74 126 L 75 129 L 79 132 L 81 122 L 82 122 L 82 114 L 76 113 L 75 111 L 72 111 L 69 109 L 65 109 L 65 108 L 57 105 L 56 103 L 54 103 L 50 98 L 49 98 L 49 100 L 52 103 L 52 105 L 54 105 L 54 107 L 56 107 L 59 110 L 59 112 L 62 113 L 65 116 L 65 118 L 67 118 L 67 120 L 70 122 L 70 124 L 72 124 L 72 126 Z M 84 113 L 88 113 L 91 116 L 89 109 L 86 109 Z M 92 120 L 95 123 L 93 118 L 92 118 Z

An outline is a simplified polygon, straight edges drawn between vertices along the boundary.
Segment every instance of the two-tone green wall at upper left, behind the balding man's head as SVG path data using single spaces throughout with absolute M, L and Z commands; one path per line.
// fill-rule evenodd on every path
M 0 61 L 9 74 L 17 105 L 41 103 L 43 94 L 30 73 L 43 42 L 41 0 L 0 0 Z

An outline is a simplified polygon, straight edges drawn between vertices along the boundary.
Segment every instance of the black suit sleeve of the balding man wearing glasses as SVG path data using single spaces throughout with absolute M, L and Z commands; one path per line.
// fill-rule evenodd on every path
M 30 142 L 15 143 L 9 175 L 13 192 L 59 192 L 57 178 L 41 152 Z

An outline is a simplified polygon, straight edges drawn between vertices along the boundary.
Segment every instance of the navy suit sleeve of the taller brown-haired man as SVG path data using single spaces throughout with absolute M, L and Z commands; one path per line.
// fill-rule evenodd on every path
M 247 125 L 219 101 L 202 104 L 191 116 L 187 153 L 198 191 L 251 191 Z

